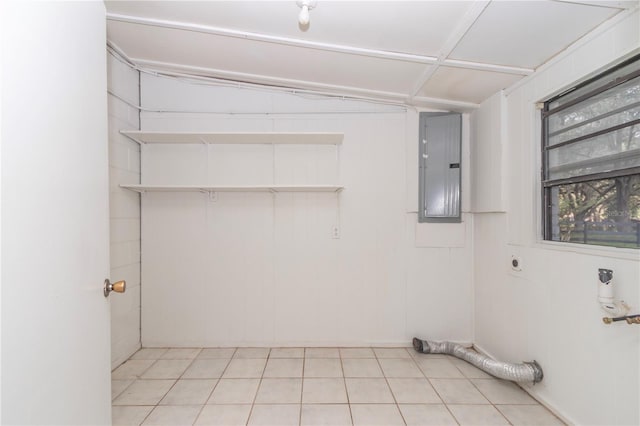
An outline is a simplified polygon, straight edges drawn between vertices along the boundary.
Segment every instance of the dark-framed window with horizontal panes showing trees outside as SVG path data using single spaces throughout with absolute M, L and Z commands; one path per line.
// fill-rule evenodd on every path
M 640 57 L 544 103 L 544 238 L 640 247 Z

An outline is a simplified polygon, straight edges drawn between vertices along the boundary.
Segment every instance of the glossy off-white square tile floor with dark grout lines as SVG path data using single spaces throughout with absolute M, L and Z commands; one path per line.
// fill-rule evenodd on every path
M 141 349 L 114 425 L 562 425 L 511 382 L 406 348 Z

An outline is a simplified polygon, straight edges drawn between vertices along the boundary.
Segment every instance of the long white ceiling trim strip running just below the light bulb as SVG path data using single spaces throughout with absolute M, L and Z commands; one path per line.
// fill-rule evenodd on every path
M 190 24 L 177 21 L 166 21 L 161 19 L 141 18 L 129 15 L 119 15 L 107 13 L 107 20 L 126 22 L 130 24 L 147 25 L 152 27 L 169 28 L 198 32 L 202 34 L 218 35 L 222 37 L 233 37 L 244 40 L 261 41 L 265 43 L 281 44 L 286 46 L 304 47 L 307 49 L 324 50 L 329 52 L 346 53 L 349 55 L 369 56 L 380 59 L 390 59 L 403 62 L 413 62 L 419 64 L 433 64 L 437 58 L 432 56 L 413 55 L 409 53 L 389 52 L 386 50 L 366 49 L 362 47 L 347 46 L 343 44 L 322 43 L 310 40 L 301 40 L 289 37 L 279 37 L 266 34 L 253 33 L 248 31 L 232 30 L 228 28 L 211 27 L 207 25 Z

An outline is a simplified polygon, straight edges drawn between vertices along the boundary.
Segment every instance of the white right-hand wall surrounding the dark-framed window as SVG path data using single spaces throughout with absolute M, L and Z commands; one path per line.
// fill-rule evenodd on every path
M 524 84 L 507 93 L 506 111 L 493 98 L 475 112 L 480 128 L 506 125 L 506 213 L 474 216 L 475 342 L 493 356 L 536 359 L 544 380 L 529 390 L 573 424 L 640 423 L 640 328 L 604 325 L 597 303 L 598 268 L 614 270 L 617 296 L 640 311 L 637 250 L 540 241 L 540 120 L 535 103 L 569 87 L 640 45 L 640 17 L 605 26 Z M 499 96 L 499 95 L 497 95 Z M 483 133 L 479 142 L 486 144 Z M 489 149 L 500 152 L 500 139 Z M 482 149 L 482 147 L 480 147 Z M 478 175 L 495 158 L 476 154 Z M 489 176 L 488 174 L 487 176 Z M 494 199 L 479 211 L 500 211 L 491 185 L 474 182 L 475 199 Z M 523 270 L 510 270 L 518 255 Z

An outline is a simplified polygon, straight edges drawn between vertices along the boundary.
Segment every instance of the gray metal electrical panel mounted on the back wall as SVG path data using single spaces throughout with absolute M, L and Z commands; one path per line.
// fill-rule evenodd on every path
M 460 222 L 462 115 L 420 113 L 420 222 Z

